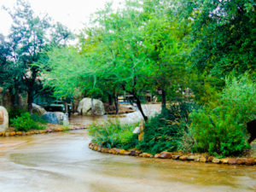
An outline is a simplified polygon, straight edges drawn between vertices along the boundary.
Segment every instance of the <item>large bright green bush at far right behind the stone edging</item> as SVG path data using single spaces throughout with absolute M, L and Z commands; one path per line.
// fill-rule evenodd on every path
M 218 102 L 191 113 L 195 151 L 228 156 L 249 148 L 246 123 L 255 119 L 255 88 L 247 76 L 226 79 Z

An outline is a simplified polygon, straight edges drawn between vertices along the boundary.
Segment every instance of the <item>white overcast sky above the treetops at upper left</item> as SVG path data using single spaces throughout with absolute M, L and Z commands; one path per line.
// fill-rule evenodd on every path
M 79 32 L 84 24 L 90 21 L 90 15 L 97 9 L 104 8 L 105 3 L 113 2 L 113 8 L 119 7 L 119 3 L 125 0 L 26 0 L 32 6 L 36 15 L 48 14 L 55 21 L 61 22 L 72 32 Z M 3 6 L 12 9 L 16 0 L 0 0 L 0 33 L 9 34 L 12 19 L 2 9 Z

